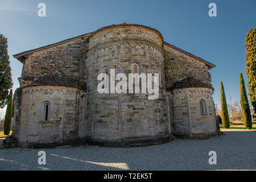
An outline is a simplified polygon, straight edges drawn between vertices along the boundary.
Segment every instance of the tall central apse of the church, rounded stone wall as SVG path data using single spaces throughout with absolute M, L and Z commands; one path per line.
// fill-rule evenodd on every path
M 138 27 L 109 28 L 89 39 L 88 138 L 122 143 L 169 136 L 161 45 L 156 32 Z M 147 94 L 142 93 L 97 92 L 97 75 L 102 67 L 107 67 L 109 73 L 110 68 L 115 69 L 115 74 L 125 73 L 128 79 L 132 63 L 139 65 L 140 73 L 162 75 L 158 100 L 148 100 Z

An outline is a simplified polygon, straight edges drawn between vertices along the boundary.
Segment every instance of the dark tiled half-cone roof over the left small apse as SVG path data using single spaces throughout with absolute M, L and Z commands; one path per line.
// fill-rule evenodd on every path
M 35 81 L 32 81 L 30 84 L 23 86 L 40 86 L 40 85 L 49 85 L 49 86 L 68 86 L 73 88 L 79 88 L 76 84 L 68 81 L 64 77 L 60 77 L 58 75 L 45 75 L 42 77 L 37 78 Z

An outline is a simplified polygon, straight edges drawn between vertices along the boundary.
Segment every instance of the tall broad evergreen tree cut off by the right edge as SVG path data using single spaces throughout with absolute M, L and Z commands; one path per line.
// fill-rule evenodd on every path
M 256 28 L 251 28 L 245 38 L 245 64 L 251 105 L 256 111 Z

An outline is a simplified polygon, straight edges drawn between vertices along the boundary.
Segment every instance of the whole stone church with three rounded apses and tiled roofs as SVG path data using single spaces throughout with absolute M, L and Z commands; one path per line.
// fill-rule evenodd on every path
M 113 24 L 14 55 L 22 64 L 13 137 L 23 147 L 139 146 L 217 135 L 215 65 L 140 24 Z M 97 92 L 97 76 L 159 73 L 159 97 Z M 142 84 L 140 82 L 140 84 Z

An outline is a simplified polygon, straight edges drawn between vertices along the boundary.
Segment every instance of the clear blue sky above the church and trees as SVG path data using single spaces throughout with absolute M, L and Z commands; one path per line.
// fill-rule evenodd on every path
M 46 4 L 46 17 L 38 16 L 41 2 Z M 211 2 L 217 5 L 216 17 L 208 15 Z M 156 28 L 164 41 L 216 65 L 210 73 L 213 99 L 220 107 L 220 81 L 228 103 L 229 96 L 232 103 L 240 100 L 239 73 L 247 83 L 245 35 L 256 27 L 255 8 L 255 0 L 0 0 L 0 33 L 9 42 L 15 90 L 22 72 L 22 64 L 12 56 L 15 53 L 110 24 L 126 22 Z

